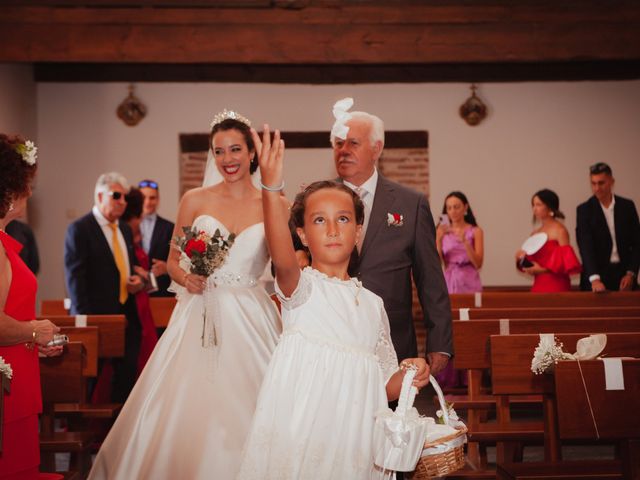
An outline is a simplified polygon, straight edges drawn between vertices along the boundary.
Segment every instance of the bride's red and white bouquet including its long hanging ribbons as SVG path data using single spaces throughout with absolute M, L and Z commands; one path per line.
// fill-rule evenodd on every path
M 189 271 L 203 277 L 209 277 L 222 266 L 236 239 L 234 233 L 230 233 L 225 238 L 218 228 L 213 235 L 193 227 L 183 227 L 182 231 L 184 232 L 183 237 L 177 236 L 173 239 L 174 248 L 177 248 L 183 256 L 189 259 Z M 216 310 L 217 303 L 211 291 L 211 284 L 207 282 L 202 312 L 202 336 L 200 337 L 202 346 L 205 348 L 218 345 Z M 211 313 L 211 318 L 208 313 Z

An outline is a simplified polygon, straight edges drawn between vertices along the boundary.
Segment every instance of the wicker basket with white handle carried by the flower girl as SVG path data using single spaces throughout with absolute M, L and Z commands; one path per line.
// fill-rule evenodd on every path
M 429 381 L 438 394 L 440 408 L 442 409 L 445 423 L 449 423 L 449 414 L 442 390 L 435 378 L 430 377 Z M 456 470 L 460 470 L 465 465 L 464 444 L 467 441 L 467 429 L 461 428 L 456 433 L 439 438 L 433 442 L 424 444 L 422 456 L 418 460 L 418 465 L 411 478 L 413 480 L 427 480 L 432 477 L 443 477 Z

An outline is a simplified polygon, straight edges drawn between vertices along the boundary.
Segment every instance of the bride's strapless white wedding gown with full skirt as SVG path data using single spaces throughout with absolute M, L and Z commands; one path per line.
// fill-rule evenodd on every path
M 208 215 L 193 224 L 228 234 Z M 268 260 L 264 225 L 254 224 L 240 232 L 210 277 L 216 284 L 214 348 L 202 347 L 203 296 L 178 287 L 169 326 L 102 444 L 90 479 L 235 477 L 281 331 L 277 309 L 257 282 Z

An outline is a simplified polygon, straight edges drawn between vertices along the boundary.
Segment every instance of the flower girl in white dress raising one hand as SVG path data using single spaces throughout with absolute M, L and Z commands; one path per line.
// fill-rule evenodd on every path
M 374 415 L 398 398 L 398 368 L 380 297 L 349 278 L 349 258 L 364 219 L 360 198 L 336 182 L 315 182 L 291 207 L 296 231 L 313 258 L 300 271 L 288 228 L 284 142 L 260 138 L 265 231 L 276 269 L 283 334 L 258 397 L 238 479 L 369 479 Z M 426 385 L 429 368 L 414 385 Z

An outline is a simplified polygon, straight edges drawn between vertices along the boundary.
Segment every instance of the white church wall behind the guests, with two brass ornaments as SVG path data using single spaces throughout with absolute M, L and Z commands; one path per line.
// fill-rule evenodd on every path
M 437 214 L 451 190 L 468 195 L 486 232 L 487 285 L 530 283 L 516 273 L 513 255 L 532 229 L 536 190 L 559 194 L 574 244 L 575 207 L 590 195 L 590 164 L 609 162 L 616 191 L 640 205 L 640 81 L 483 84 L 479 95 L 490 115 L 478 127 L 458 116 L 467 84 L 138 84 L 136 94 L 149 113 L 137 127 L 116 118 L 126 94 L 125 84 L 38 85 L 41 163 L 32 212 L 43 298 L 64 295 L 64 232 L 91 208 L 98 175 L 118 170 L 134 182 L 158 180 L 161 214 L 174 218 L 178 134 L 207 131 L 224 107 L 255 125 L 329 130 L 333 103 L 353 96 L 355 107 L 381 116 L 387 130 L 428 130 L 432 209 Z M 300 158 L 292 151 L 287 160 L 296 171 L 290 174 L 293 184 L 304 176 L 305 162 L 326 162 L 316 167 L 331 170 L 329 151 Z

